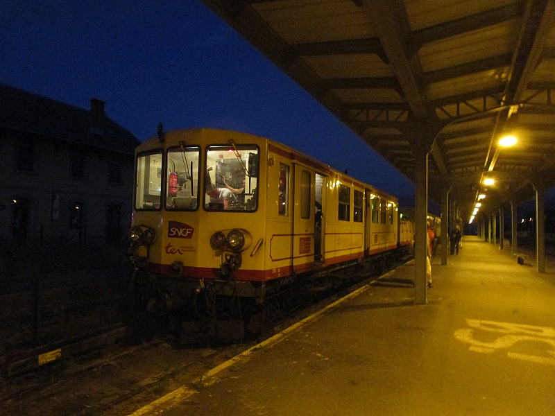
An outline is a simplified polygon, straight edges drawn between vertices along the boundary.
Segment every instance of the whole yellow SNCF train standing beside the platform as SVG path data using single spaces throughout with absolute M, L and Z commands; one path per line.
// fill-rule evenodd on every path
M 227 130 L 159 129 L 136 150 L 133 204 L 133 287 L 184 320 L 244 320 L 294 282 L 383 263 L 413 237 L 393 196 Z

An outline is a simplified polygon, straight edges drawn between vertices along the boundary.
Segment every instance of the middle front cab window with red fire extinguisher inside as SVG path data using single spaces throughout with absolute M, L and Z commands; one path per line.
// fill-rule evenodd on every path
M 198 208 L 200 182 L 198 146 L 178 146 L 168 149 L 166 209 L 194 211 Z

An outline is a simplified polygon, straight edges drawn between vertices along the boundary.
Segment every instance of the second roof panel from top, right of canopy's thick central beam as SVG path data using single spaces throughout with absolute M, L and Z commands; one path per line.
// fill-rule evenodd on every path
M 511 52 L 518 28 L 518 21 L 511 20 L 425 44 L 418 51 L 422 70 L 436 71 Z

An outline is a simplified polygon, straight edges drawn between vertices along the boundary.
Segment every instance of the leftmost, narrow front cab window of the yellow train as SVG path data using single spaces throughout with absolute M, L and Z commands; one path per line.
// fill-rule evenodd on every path
M 135 209 L 160 209 L 162 150 L 137 155 Z

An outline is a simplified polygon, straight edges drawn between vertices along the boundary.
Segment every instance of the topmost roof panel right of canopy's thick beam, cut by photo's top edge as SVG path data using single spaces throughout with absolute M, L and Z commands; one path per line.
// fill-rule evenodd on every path
M 412 31 L 476 15 L 519 0 L 404 0 Z

